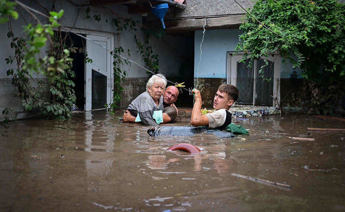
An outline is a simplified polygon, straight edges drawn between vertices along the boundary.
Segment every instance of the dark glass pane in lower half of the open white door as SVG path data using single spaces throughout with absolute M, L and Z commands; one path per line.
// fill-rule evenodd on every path
M 107 77 L 92 70 L 91 109 L 105 108 L 107 103 Z

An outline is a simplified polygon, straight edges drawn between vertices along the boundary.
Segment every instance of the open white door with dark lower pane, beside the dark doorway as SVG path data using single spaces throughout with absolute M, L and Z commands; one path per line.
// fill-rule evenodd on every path
M 86 35 L 97 44 L 113 49 L 114 36 Z M 110 52 L 99 45 L 86 40 L 86 51 L 92 63 L 85 65 L 85 110 L 105 108 L 110 104 L 112 90 L 112 57 Z

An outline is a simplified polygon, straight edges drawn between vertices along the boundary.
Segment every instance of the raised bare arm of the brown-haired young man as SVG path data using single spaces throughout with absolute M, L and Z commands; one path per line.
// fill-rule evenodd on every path
M 203 103 L 203 101 L 201 100 L 200 91 L 197 89 L 193 89 L 192 92 L 194 93 L 195 103 L 192 110 L 190 124 L 195 127 L 208 125 L 208 117 L 205 114 L 203 115 L 201 113 L 201 104 Z

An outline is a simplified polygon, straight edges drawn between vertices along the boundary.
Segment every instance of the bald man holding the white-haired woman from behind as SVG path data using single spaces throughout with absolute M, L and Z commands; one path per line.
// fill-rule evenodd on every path
M 179 91 L 175 86 L 171 85 L 165 89 L 163 93 L 163 124 L 176 122 L 178 110 L 174 102 L 176 102 L 178 94 Z M 135 118 L 126 110 L 121 122 L 135 122 Z

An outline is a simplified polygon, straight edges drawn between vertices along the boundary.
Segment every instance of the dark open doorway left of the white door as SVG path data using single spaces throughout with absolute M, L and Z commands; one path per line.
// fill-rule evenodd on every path
M 83 34 L 81 34 L 83 35 Z M 86 36 L 86 35 L 83 35 Z M 75 83 L 73 88 L 76 94 L 76 106 L 80 110 L 84 110 L 85 105 L 85 64 L 84 64 L 84 51 L 79 52 L 79 49 L 85 49 L 86 42 L 84 38 L 81 38 L 73 33 L 61 32 L 62 39 L 66 37 L 66 48 L 77 47 L 76 52 L 70 51 L 70 58 L 73 58 L 72 71 L 75 73 L 75 77 L 68 78 Z

